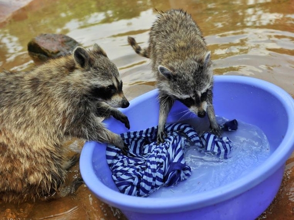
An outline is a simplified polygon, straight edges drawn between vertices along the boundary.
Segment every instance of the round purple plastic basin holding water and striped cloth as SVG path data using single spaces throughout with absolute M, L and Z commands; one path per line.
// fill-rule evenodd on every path
M 294 150 L 294 100 L 283 89 L 245 76 L 216 76 L 216 114 L 258 126 L 270 143 L 270 155 L 252 172 L 221 187 L 169 198 L 139 198 L 119 192 L 106 163 L 106 145 L 87 142 L 80 157 L 81 175 L 88 188 L 103 202 L 121 209 L 129 220 L 254 220 L 270 205 L 281 184 L 285 162 Z M 157 90 L 143 94 L 121 109 L 130 121 L 130 131 L 158 123 Z M 187 108 L 175 102 L 168 122 L 185 118 Z M 196 117 L 188 114 L 189 117 Z M 196 117 L 197 118 L 197 117 Z M 199 119 L 201 120 L 207 119 Z M 116 133 L 124 125 L 104 120 Z

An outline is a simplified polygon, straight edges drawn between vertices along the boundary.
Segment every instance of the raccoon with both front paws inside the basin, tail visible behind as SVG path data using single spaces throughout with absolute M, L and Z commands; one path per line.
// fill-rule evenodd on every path
M 149 45 L 141 48 L 134 38 L 128 43 L 136 53 L 151 59 L 159 90 L 157 142 L 164 142 L 164 127 L 174 100 L 179 100 L 198 117 L 207 113 L 211 132 L 220 135 L 213 98 L 210 51 L 191 15 L 183 10 L 161 12 L 149 32 Z

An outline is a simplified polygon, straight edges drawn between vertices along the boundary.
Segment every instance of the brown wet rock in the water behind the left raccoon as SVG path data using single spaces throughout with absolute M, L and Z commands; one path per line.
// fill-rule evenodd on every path
M 79 44 L 63 34 L 40 34 L 27 44 L 28 54 L 33 60 L 46 61 L 70 54 Z

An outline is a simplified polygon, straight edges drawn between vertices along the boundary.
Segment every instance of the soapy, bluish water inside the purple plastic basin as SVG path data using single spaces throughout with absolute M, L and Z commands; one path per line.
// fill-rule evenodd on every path
M 220 124 L 227 121 L 218 117 Z M 208 192 L 250 174 L 270 156 L 270 144 L 264 132 L 255 125 L 238 121 L 238 130 L 224 132 L 232 141 L 228 158 L 201 153 L 197 146 L 184 149 L 186 164 L 192 175 L 175 186 L 161 187 L 149 197 L 174 197 Z

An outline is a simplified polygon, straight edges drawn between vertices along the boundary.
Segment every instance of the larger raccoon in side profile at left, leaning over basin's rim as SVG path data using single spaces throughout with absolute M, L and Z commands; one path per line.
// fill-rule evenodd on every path
M 113 116 L 129 129 L 115 109 L 129 106 L 122 88 L 117 67 L 97 44 L 31 71 L 0 73 L 0 199 L 58 192 L 73 162 L 62 147 L 68 138 L 112 143 L 125 154 L 120 135 L 98 118 Z

